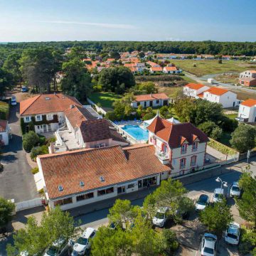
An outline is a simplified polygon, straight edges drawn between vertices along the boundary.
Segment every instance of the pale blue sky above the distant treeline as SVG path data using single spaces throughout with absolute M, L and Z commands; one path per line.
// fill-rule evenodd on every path
M 255 0 L 0 0 L 0 42 L 256 41 Z

